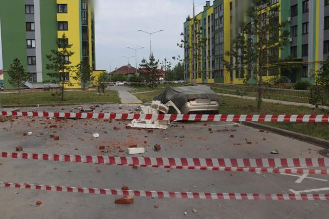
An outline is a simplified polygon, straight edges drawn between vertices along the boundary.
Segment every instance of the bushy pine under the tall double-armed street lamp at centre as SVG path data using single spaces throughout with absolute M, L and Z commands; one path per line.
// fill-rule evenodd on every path
M 154 87 L 157 81 L 159 60 L 155 61 L 153 53 L 150 55 L 149 61 L 143 59 L 139 64 L 138 73 L 144 80 L 150 82 L 149 86 Z

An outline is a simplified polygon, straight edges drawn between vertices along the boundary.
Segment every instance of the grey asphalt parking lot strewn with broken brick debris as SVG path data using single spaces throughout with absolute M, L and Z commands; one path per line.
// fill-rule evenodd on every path
M 130 113 L 137 105 L 101 105 L 96 112 Z M 21 108 L 21 111 L 70 111 L 72 106 Z M 72 109 L 72 111 L 76 111 Z M 0 151 L 128 156 L 132 144 L 144 157 L 297 158 L 321 157 L 322 148 L 231 122 L 174 122 L 168 130 L 125 129 L 129 121 L 14 118 L 0 123 Z M 50 129 L 50 125 L 57 125 Z M 119 130 L 114 130 L 114 126 Z M 212 131 L 209 131 L 209 128 Z M 31 136 L 23 136 L 32 132 Z M 93 138 L 99 133 L 98 139 Z M 55 141 L 51 134 L 60 136 Z M 234 135 L 234 138 L 230 136 Z M 265 138 L 265 139 L 264 139 Z M 246 140 L 252 141 L 247 144 Z M 160 144 L 159 152 L 153 150 Z M 105 150 L 99 150 L 104 145 Z M 270 154 L 278 150 L 279 154 Z M 121 151 L 121 152 L 120 152 Z M 137 155 L 138 156 L 138 155 Z M 40 185 L 132 190 L 221 193 L 327 193 L 327 175 L 236 173 L 63 163 L 0 158 L 0 181 Z M 318 190 L 323 191 L 318 191 Z M 309 190 L 309 191 L 308 191 Z M 328 189 L 329 191 L 329 189 Z M 203 200 L 135 197 L 116 205 L 118 196 L 0 188 L 2 218 L 328 218 L 327 202 Z M 40 200 L 42 205 L 36 206 Z M 157 208 L 156 208 L 156 207 Z M 192 212 L 196 209 L 197 212 Z M 187 215 L 184 215 L 187 212 Z

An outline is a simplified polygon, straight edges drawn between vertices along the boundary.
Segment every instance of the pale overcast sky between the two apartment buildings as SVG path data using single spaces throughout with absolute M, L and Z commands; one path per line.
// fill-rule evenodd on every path
M 206 1 L 195 0 L 196 13 L 202 11 Z M 111 70 L 127 64 L 122 56 L 135 56 L 135 51 L 127 49 L 145 47 L 137 51 L 137 63 L 150 56 L 150 35 L 139 32 L 155 32 L 152 36 L 152 51 L 160 62 L 166 57 L 172 65 L 173 56 L 184 54 L 177 46 L 180 33 L 188 15 L 193 15 L 193 0 L 96 0 L 95 35 L 96 35 L 96 68 Z M 0 41 L 1 42 L 1 41 Z M 0 43 L 1 49 L 1 43 Z M 135 67 L 135 57 L 130 59 Z M 2 69 L 0 53 L 0 69 Z

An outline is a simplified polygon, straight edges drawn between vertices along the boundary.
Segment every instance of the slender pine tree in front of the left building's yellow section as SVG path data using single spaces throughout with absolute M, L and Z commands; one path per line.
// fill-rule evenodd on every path
M 48 70 L 53 70 L 54 72 L 49 72 L 47 75 L 51 78 L 52 83 L 60 83 L 62 85 L 62 98 L 64 100 L 64 84 L 69 77 L 69 72 L 72 70 L 71 62 L 69 58 L 73 56 L 74 52 L 69 49 L 72 44 L 68 44 L 68 39 L 65 33 L 62 38 L 57 41 L 58 49 L 51 50 L 52 54 L 47 54 L 46 57 L 49 63 L 46 64 Z

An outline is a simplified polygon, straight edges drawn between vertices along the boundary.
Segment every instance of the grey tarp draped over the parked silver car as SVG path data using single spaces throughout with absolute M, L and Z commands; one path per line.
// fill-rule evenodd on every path
M 166 104 L 170 100 L 180 109 L 189 99 L 210 99 L 218 101 L 218 95 L 212 89 L 205 85 L 186 86 L 186 87 L 166 87 L 153 100 L 159 100 Z

